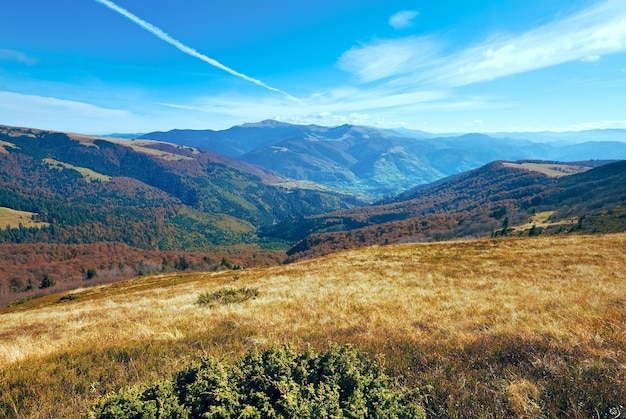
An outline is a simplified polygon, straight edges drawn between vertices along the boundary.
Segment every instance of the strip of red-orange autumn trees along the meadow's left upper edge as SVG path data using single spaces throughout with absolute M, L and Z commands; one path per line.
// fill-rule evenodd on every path
M 282 253 L 152 251 L 121 243 L 0 244 L 0 305 L 22 298 L 172 271 L 269 266 Z M 44 275 L 55 282 L 39 289 Z

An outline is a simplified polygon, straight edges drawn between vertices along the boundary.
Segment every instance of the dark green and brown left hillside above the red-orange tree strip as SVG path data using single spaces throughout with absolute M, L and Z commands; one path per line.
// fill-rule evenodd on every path
M 197 249 L 254 243 L 259 226 L 358 204 L 274 186 L 282 179 L 259 167 L 172 144 L 10 127 L 0 141 L 0 207 L 49 224 L 5 230 L 0 241 Z

